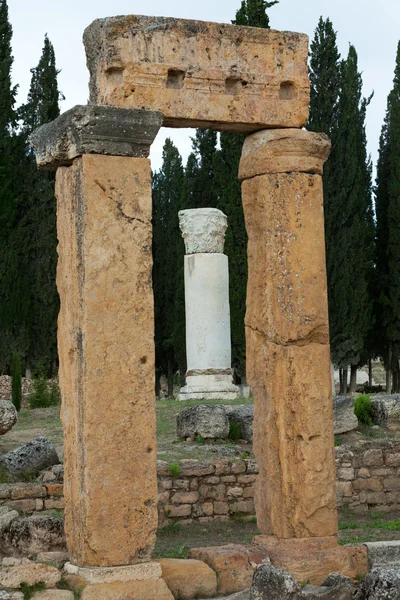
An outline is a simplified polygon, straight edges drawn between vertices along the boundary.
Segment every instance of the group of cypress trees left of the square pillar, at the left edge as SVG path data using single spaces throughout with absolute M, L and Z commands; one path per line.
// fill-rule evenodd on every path
M 32 131 L 60 114 L 54 48 L 47 35 L 16 108 L 12 27 L 0 0 L 0 373 L 17 352 L 24 370 L 57 370 L 57 264 L 54 175 L 36 169 Z

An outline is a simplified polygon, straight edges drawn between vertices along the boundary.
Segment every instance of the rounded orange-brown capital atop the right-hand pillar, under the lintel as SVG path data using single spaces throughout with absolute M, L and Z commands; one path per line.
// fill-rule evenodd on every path
M 322 175 L 331 142 L 324 133 L 305 129 L 265 129 L 249 135 L 243 145 L 239 179 L 267 173 Z

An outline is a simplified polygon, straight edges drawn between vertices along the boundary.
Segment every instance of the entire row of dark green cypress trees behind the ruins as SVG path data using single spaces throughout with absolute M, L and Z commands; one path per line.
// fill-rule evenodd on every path
M 243 0 L 233 23 L 270 26 L 277 1 Z M 330 19 L 321 19 L 310 48 L 310 131 L 325 132 L 332 151 L 324 171 L 326 260 L 332 362 L 341 391 L 355 387 L 358 367 L 382 358 L 388 391 L 400 391 L 400 45 L 393 89 L 380 138 L 376 181 L 367 153 L 365 121 L 372 95 L 364 97 L 354 46 L 340 56 Z M 60 114 L 54 48 L 45 36 L 31 69 L 26 103 L 16 108 L 12 83 L 12 27 L 0 0 L 0 373 L 17 352 L 29 373 L 38 365 L 57 370 L 54 176 L 36 169 L 29 146 L 33 129 Z M 186 371 L 184 244 L 178 212 L 216 207 L 228 217 L 232 366 L 246 374 L 244 315 L 247 235 L 238 165 L 244 136 L 197 129 L 186 165 L 167 139 L 153 173 L 153 282 L 157 373 Z M 159 380 L 159 377 L 157 377 Z

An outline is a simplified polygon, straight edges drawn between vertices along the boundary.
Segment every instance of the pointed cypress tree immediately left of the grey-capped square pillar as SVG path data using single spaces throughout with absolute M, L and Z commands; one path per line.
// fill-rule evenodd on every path
M 32 78 L 26 104 L 18 111 L 26 143 L 25 193 L 16 227 L 20 239 L 22 270 L 29 285 L 29 343 L 26 366 L 40 362 L 52 373 L 57 367 L 57 316 L 59 298 L 56 288 L 57 231 L 54 174 L 37 170 L 29 136 L 34 129 L 53 121 L 60 114 L 54 47 L 47 35 Z

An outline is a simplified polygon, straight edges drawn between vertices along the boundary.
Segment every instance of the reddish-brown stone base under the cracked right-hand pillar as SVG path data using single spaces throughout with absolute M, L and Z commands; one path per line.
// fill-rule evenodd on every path
M 257 536 L 251 560 L 262 562 L 268 556 L 271 563 L 288 571 L 300 583 L 321 585 L 330 573 L 341 573 L 355 579 L 367 572 L 367 554 L 362 546 L 339 546 L 336 537 L 278 539 Z

